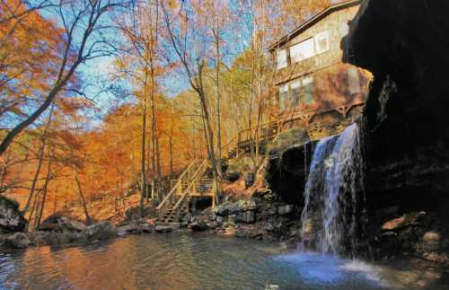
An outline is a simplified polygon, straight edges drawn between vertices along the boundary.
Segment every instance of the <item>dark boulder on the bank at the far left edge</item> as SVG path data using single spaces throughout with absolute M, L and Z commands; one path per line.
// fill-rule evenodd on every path
M 25 225 L 19 204 L 0 195 L 0 233 L 22 232 Z

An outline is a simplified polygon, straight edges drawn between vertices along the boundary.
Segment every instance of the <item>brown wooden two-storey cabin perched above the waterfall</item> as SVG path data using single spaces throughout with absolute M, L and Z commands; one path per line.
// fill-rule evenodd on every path
M 373 76 L 342 62 L 340 42 L 361 1 L 340 1 L 277 40 L 279 130 L 304 127 L 312 139 L 340 133 L 360 115 Z

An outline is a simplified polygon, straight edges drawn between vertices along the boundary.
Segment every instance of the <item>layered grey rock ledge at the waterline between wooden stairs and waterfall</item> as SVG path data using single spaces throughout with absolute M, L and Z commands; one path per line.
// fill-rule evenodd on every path
M 250 198 L 227 201 L 201 215 L 186 215 L 182 225 L 192 232 L 209 232 L 294 245 L 300 239 L 301 208 L 277 201 L 270 190 Z

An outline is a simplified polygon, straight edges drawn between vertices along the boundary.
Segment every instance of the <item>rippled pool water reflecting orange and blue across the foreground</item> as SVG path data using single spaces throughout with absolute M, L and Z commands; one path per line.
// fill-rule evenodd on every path
M 5 289 L 389 289 L 357 260 L 202 234 L 0 253 Z

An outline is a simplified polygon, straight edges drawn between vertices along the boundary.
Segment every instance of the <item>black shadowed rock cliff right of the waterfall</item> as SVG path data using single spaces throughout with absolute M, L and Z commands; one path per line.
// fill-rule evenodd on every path
M 367 233 L 378 250 L 431 249 L 430 236 L 449 238 L 448 8 L 445 0 L 365 1 L 342 41 L 346 60 L 374 74 L 360 126 Z M 432 222 L 382 229 L 420 211 Z

